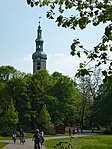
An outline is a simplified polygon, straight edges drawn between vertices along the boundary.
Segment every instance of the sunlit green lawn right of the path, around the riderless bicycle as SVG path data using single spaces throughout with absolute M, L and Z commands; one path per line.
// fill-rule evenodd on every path
M 48 140 L 45 141 L 45 146 L 47 149 L 53 149 L 53 146 L 56 145 L 56 143 L 59 143 L 60 141 L 69 142 L 69 138 Z M 73 149 L 112 149 L 111 135 L 97 135 L 97 136 L 72 138 L 71 142 L 73 145 Z

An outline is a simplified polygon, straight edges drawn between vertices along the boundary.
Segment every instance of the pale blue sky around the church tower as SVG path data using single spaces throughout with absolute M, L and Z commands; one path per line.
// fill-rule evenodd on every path
M 31 8 L 26 0 L 0 0 L 0 66 L 11 65 L 17 70 L 33 73 L 32 54 L 36 51 L 35 39 L 41 16 L 46 69 L 50 74 L 58 71 L 73 77 L 79 67 L 78 59 L 70 55 L 70 45 L 80 38 L 86 49 L 97 45 L 104 27 L 89 25 L 86 29 L 71 30 L 57 27 L 54 20 L 46 18 L 47 8 Z

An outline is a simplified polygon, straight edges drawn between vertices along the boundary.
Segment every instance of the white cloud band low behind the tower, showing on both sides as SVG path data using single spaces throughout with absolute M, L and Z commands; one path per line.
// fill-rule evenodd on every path
M 50 74 L 57 71 L 64 75 L 73 77 L 79 67 L 79 60 L 71 55 L 56 53 L 53 55 L 47 54 L 46 69 Z M 28 54 L 21 59 L 15 61 L 15 67 L 26 73 L 33 72 L 32 54 Z

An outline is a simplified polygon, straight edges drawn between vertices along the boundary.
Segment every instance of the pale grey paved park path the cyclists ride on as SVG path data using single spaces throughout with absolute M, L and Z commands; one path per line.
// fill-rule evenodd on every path
M 74 137 L 82 137 L 82 136 L 90 136 L 95 135 L 93 133 L 80 133 L 75 134 Z M 45 137 L 45 140 L 51 140 L 51 139 L 60 139 L 60 138 L 68 138 L 69 136 L 56 136 L 56 137 Z M 1 142 L 7 142 L 8 145 L 4 146 L 2 149 L 33 149 L 33 141 L 32 139 L 26 139 L 25 144 L 20 144 L 19 140 L 16 140 L 16 143 L 14 144 L 12 140 L 0 140 Z M 46 149 L 44 146 L 41 147 L 41 149 Z

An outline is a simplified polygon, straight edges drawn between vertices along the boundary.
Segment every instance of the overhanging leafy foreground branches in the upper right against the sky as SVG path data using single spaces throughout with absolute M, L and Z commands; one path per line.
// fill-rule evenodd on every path
M 93 48 L 88 50 L 80 44 L 79 39 L 74 39 L 71 45 L 71 55 L 81 57 L 84 53 L 88 60 L 85 63 L 80 63 L 80 69 L 76 76 L 88 75 L 89 71 L 86 66 L 90 61 L 96 61 L 95 64 L 99 67 L 102 64 L 109 63 L 107 70 L 102 70 L 103 75 L 107 79 L 108 75 L 112 74 L 112 59 L 109 58 L 108 52 L 112 51 L 112 1 L 111 0 L 27 0 L 31 7 L 49 6 L 49 11 L 46 12 L 47 18 L 55 19 L 58 26 L 71 28 L 73 30 L 79 27 L 81 30 L 85 29 L 90 23 L 93 26 L 98 26 L 101 23 L 106 23 L 105 32 L 101 38 L 101 42 Z M 57 12 L 57 8 L 58 11 Z M 71 10 L 71 11 L 70 11 Z M 65 12 L 70 12 L 66 15 Z M 57 14 L 56 14 L 57 13 Z M 77 49 L 78 47 L 78 49 Z M 107 52 L 108 51 L 108 52 Z M 106 81 L 106 80 L 105 80 Z

